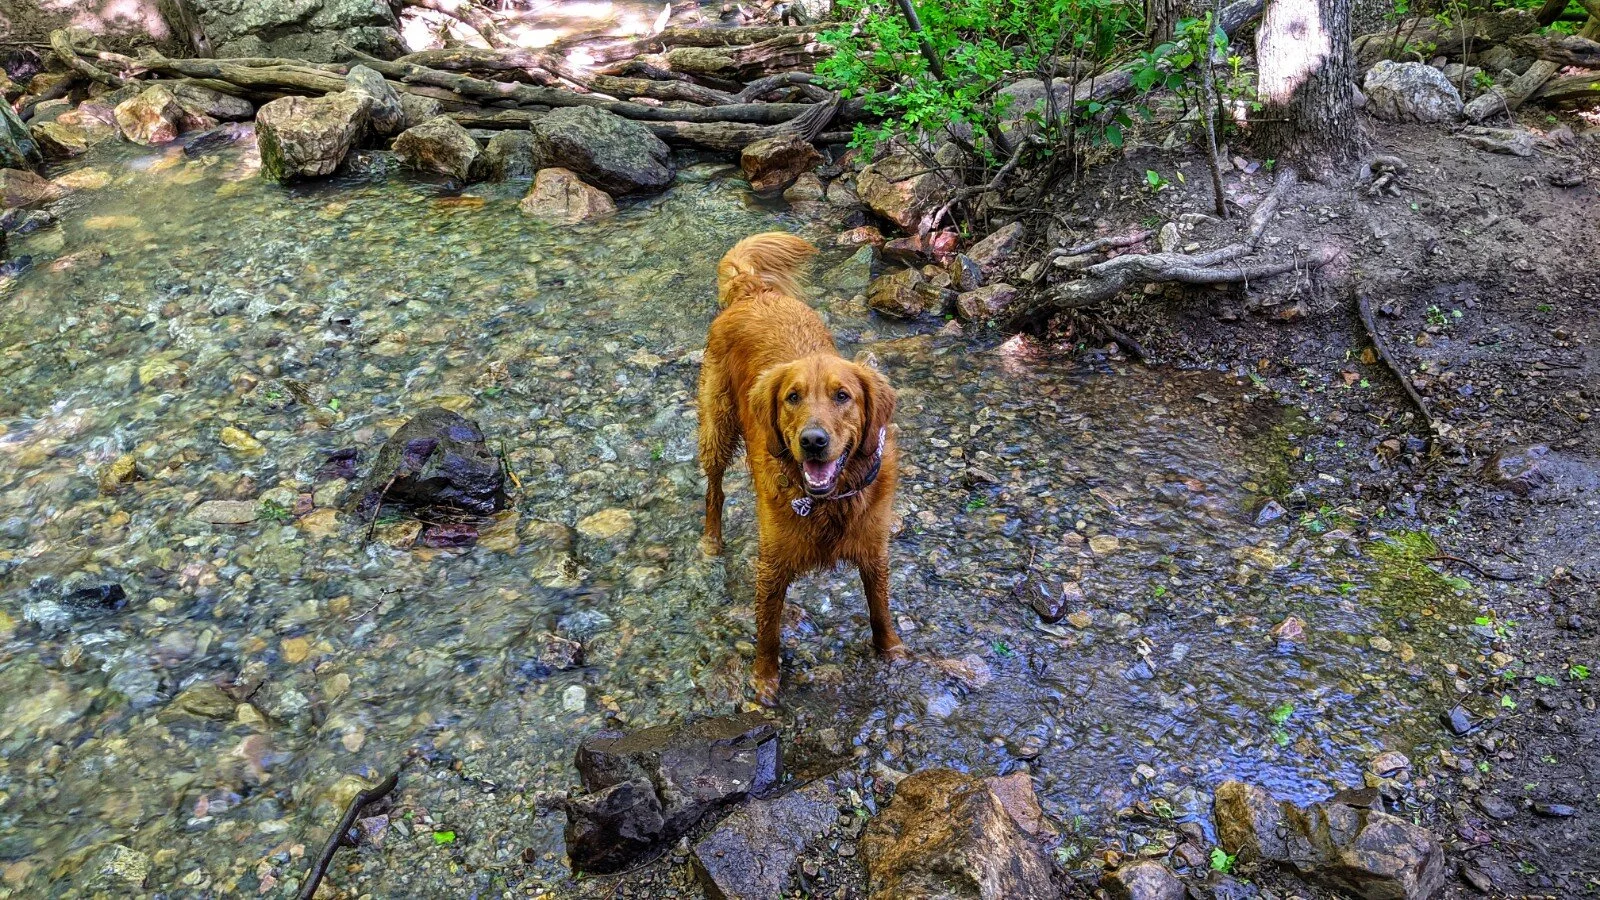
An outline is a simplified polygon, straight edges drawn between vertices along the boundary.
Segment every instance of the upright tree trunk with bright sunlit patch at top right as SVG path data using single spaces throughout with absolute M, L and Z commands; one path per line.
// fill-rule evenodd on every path
M 1267 0 L 1256 27 L 1256 149 L 1318 178 L 1363 149 L 1350 54 L 1352 0 Z

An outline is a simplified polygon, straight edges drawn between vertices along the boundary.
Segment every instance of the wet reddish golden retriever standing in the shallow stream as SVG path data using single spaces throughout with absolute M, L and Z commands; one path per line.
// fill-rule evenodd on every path
M 741 240 L 717 266 L 722 312 L 699 380 L 706 535 L 722 552 L 722 476 L 742 442 L 760 524 L 755 564 L 755 697 L 778 701 L 778 628 L 795 577 L 837 562 L 861 572 L 872 644 L 906 649 L 890 620 L 890 530 L 896 456 L 894 389 L 842 359 L 822 319 L 798 299 L 816 253 L 792 234 Z

